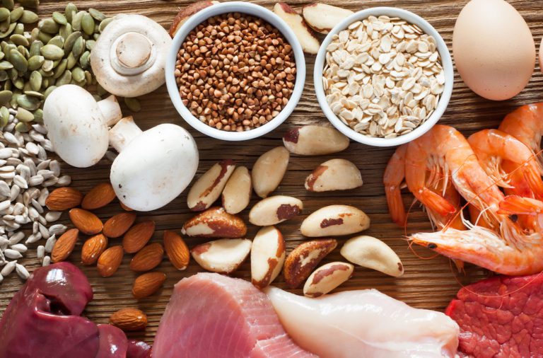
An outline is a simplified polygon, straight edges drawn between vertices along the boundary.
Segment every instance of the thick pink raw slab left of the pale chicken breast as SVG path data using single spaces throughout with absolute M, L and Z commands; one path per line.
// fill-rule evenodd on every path
M 268 297 L 243 279 L 199 273 L 177 282 L 152 357 L 315 357 L 286 334 Z

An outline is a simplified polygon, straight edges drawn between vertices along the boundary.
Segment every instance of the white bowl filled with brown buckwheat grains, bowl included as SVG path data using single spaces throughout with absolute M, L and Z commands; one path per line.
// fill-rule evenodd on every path
M 170 98 L 189 125 L 242 141 L 291 115 L 303 91 L 305 58 L 279 16 L 235 1 L 203 8 L 179 26 L 165 73 Z

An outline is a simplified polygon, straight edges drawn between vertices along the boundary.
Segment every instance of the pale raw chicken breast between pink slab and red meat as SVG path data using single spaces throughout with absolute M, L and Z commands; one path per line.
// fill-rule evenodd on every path
M 264 290 L 294 342 L 321 358 L 455 357 L 458 325 L 375 289 L 308 299 Z

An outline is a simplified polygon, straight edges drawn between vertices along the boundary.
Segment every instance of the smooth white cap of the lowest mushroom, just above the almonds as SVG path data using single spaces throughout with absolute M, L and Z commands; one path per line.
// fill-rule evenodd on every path
M 198 168 L 192 136 L 178 125 L 158 125 L 132 139 L 111 166 L 119 200 L 139 212 L 163 207 L 189 185 Z

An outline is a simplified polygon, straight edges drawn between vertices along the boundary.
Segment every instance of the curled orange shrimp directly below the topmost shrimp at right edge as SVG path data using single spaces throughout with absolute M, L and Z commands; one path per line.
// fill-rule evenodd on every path
M 467 142 L 472 146 L 481 167 L 497 185 L 514 188 L 510 174 L 520 171 L 535 197 L 543 197 L 543 180 L 539 175 L 538 163 L 525 144 L 496 129 L 474 133 Z M 514 185 L 526 186 L 520 176 L 515 175 L 514 179 Z

